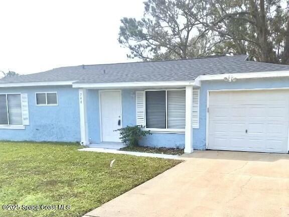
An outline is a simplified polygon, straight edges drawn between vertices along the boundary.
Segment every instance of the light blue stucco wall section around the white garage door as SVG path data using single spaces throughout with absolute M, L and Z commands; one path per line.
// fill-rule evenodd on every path
M 207 91 L 220 89 L 254 89 L 289 87 L 289 78 L 242 79 L 235 82 L 203 81 L 200 88 L 200 128 L 193 129 L 194 149 L 206 148 Z

